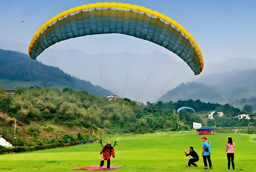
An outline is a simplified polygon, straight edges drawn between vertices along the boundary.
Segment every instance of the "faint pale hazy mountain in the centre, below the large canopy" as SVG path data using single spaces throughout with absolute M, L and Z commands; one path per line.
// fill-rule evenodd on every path
M 186 63 L 157 51 L 146 55 L 129 52 L 91 55 L 77 49 L 47 49 L 38 60 L 144 103 L 155 102 L 168 89 L 194 77 Z

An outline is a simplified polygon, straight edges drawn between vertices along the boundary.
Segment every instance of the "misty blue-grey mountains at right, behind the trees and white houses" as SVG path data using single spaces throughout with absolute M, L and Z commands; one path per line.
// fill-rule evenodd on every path
M 251 105 L 256 110 L 256 69 L 232 71 L 203 76 L 193 83 L 181 84 L 159 100 L 178 101 L 200 99 L 205 102 L 230 103 L 241 109 Z

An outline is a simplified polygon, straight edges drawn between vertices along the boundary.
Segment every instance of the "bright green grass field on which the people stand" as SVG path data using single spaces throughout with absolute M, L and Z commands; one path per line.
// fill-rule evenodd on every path
M 212 143 L 212 172 L 228 171 L 225 143 L 231 136 L 236 143 L 235 170 L 253 172 L 256 168 L 256 135 L 248 134 L 214 134 L 209 135 Z M 201 136 L 195 132 L 144 134 L 113 136 L 103 142 L 115 140 L 115 159 L 111 158 L 111 165 L 121 165 L 115 172 L 204 172 L 201 158 Z M 193 146 L 200 156 L 198 167 L 186 168 L 189 157 L 184 150 Z M 99 165 L 101 145 L 98 143 L 63 147 L 53 150 L 28 152 L 22 154 L 0 155 L 0 171 L 49 172 L 70 171 L 88 165 Z

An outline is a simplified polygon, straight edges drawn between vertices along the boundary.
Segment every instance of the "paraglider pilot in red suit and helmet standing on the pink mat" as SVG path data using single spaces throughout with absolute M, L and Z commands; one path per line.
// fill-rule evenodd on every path
M 113 158 L 115 158 L 115 150 L 114 148 L 111 146 L 111 142 L 108 141 L 107 145 L 104 146 L 100 152 L 100 154 L 103 153 L 102 159 L 100 161 L 100 168 L 104 165 L 104 160 L 107 160 L 107 169 L 110 168 L 110 158 L 111 155 Z

